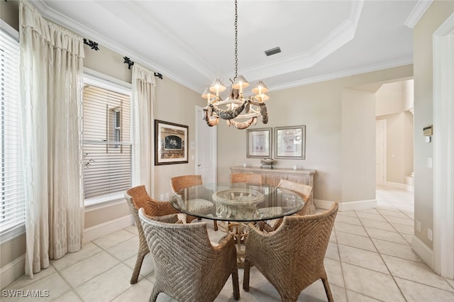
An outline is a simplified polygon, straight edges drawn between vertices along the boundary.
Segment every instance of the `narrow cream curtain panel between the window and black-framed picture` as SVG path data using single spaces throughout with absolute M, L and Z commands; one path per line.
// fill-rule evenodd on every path
M 133 65 L 133 185 L 144 184 L 154 197 L 154 140 L 153 103 L 155 102 L 155 73 L 135 63 Z

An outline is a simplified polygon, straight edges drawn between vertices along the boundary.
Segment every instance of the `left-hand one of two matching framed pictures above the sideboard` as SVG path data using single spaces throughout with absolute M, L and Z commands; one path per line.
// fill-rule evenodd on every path
M 271 128 L 248 129 L 246 157 L 271 158 Z

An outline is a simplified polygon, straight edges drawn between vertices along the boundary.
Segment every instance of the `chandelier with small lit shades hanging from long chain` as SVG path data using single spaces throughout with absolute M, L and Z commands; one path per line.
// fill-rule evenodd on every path
M 252 89 L 253 96 L 245 97 L 243 89 L 249 86 L 249 82 L 243 76 L 238 76 L 238 2 L 235 0 L 235 77 L 231 82 L 231 91 L 226 99 L 221 99 L 220 93 L 226 90 L 221 79 L 214 80 L 213 84 L 201 95 L 207 99 L 204 107 L 203 118 L 210 127 L 218 125 L 219 118 L 226 120 L 227 125 L 233 125 L 237 129 L 246 129 L 257 123 L 262 116 L 262 123 L 268 123 L 268 113 L 265 101 L 268 88 L 262 81 Z

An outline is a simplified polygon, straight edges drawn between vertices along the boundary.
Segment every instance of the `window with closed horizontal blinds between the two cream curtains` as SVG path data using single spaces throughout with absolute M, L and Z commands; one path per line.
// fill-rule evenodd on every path
M 131 187 L 131 90 L 86 76 L 84 81 L 85 204 Z

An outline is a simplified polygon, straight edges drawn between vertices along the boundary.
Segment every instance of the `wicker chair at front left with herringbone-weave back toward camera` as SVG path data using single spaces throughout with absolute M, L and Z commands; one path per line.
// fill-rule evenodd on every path
M 211 245 L 206 223 L 175 224 L 174 215 L 149 217 L 139 210 L 145 237 L 155 259 L 150 301 L 166 293 L 177 301 L 214 301 L 232 276 L 233 297 L 240 298 L 236 247 L 232 235 Z

